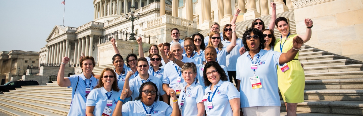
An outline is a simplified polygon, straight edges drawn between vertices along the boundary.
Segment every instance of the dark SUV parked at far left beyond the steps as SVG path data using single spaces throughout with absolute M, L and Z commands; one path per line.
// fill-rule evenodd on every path
M 21 88 L 21 86 L 38 86 L 39 83 L 35 80 L 18 80 L 5 83 L 0 86 L 0 94 L 3 92 L 9 92 L 9 90 L 15 90 L 15 88 Z

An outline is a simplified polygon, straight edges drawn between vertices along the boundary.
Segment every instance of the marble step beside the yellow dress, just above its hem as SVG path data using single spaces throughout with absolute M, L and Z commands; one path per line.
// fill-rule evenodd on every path
M 280 99 L 282 96 L 280 94 Z M 363 101 L 363 89 L 304 90 L 304 100 Z

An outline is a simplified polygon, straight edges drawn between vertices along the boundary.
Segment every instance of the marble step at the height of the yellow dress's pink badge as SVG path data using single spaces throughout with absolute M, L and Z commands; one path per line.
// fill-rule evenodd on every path
M 318 73 L 318 72 L 343 72 L 343 71 L 361 71 L 361 70 L 363 70 L 363 64 L 304 67 L 305 74 Z

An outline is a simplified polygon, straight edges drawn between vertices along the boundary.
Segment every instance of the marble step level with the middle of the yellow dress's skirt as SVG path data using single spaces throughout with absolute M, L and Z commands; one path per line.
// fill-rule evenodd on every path
M 363 89 L 363 78 L 305 80 L 308 89 Z

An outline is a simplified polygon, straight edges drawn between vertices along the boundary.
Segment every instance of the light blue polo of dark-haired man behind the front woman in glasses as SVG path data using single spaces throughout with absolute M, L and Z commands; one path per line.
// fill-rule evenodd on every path
M 166 94 L 166 92 L 163 90 L 163 82 L 160 81 L 159 78 L 157 78 L 156 76 L 149 75 L 149 78 L 144 80 L 144 79 L 140 78 L 140 75 L 138 75 L 138 76 L 136 76 L 136 78 L 131 79 L 129 82 L 130 91 L 132 92 L 132 94 L 131 94 L 132 100 L 135 100 L 136 97 L 139 97 L 139 94 L 140 94 L 139 89 L 141 87 L 141 84 L 145 83 L 145 82 L 155 83 L 156 87 L 158 87 L 159 96 Z M 158 101 L 159 101 L 159 99 L 158 99 Z

